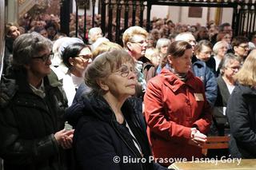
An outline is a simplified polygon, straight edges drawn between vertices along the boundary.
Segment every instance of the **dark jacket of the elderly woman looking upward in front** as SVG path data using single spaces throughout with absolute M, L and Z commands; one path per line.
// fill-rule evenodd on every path
M 126 123 L 130 126 L 138 140 L 144 158 L 150 156 L 150 145 L 143 126 L 142 114 L 134 112 L 130 101 L 122 106 Z M 74 157 L 76 169 L 110 169 L 110 170 L 137 170 L 137 169 L 166 169 L 159 164 L 136 164 L 123 162 L 123 156 L 142 158 L 134 145 L 133 137 L 125 125 L 120 125 L 110 105 L 98 95 L 83 96 L 67 110 L 68 120 L 75 128 Z M 121 160 L 114 163 L 115 156 Z

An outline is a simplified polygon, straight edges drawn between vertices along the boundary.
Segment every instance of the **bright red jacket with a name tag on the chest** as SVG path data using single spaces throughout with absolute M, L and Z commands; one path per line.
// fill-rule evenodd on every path
M 210 105 L 198 77 L 189 72 L 185 83 L 168 69 L 162 69 L 148 82 L 144 102 L 147 133 L 155 158 L 202 157 L 201 149 L 188 143 L 190 128 L 206 133 L 211 122 Z

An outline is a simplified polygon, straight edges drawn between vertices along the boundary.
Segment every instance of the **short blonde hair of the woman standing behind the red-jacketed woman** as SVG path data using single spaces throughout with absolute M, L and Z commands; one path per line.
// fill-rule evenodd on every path
M 147 37 L 148 32 L 140 26 L 131 26 L 122 35 L 122 43 L 124 48 L 127 48 L 127 42 L 131 42 L 134 35 L 143 35 Z

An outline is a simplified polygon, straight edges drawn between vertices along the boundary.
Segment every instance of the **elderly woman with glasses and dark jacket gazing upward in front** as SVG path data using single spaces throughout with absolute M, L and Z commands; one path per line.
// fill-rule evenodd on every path
M 76 169 L 166 169 L 149 160 L 146 125 L 130 103 L 137 78 L 129 53 L 100 54 L 86 69 L 85 82 L 90 92 L 67 110 L 75 127 Z

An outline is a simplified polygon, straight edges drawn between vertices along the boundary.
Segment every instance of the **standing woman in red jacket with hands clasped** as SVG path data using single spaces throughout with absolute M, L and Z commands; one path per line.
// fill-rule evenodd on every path
M 206 141 L 210 128 L 210 105 L 202 81 L 190 71 L 192 47 L 176 41 L 168 47 L 171 69 L 148 82 L 144 97 L 147 133 L 158 162 L 168 166 L 172 161 L 202 157 L 194 144 Z M 162 161 L 169 159 L 170 161 Z

